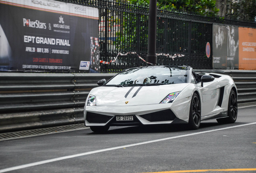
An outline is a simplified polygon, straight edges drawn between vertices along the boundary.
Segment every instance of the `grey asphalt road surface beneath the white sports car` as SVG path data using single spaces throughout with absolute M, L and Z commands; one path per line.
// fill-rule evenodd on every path
M 228 170 L 227 170 L 228 169 Z M 111 127 L 0 141 L 0 173 L 256 173 L 256 107 L 234 124 Z

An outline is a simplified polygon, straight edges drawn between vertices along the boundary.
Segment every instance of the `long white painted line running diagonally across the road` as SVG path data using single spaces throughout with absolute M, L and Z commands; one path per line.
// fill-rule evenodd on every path
M 236 128 L 236 127 L 243 127 L 243 126 L 254 125 L 254 124 L 256 124 L 256 122 L 248 123 L 248 124 L 244 124 L 244 125 L 236 125 L 236 126 L 232 126 L 232 127 L 225 127 L 225 128 L 221 128 L 221 129 L 214 129 L 214 130 L 209 130 L 209 131 L 190 133 L 190 134 L 187 134 L 187 135 L 179 135 L 179 136 L 175 136 L 175 137 L 167 137 L 167 138 L 163 138 L 163 139 L 156 139 L 156 140 L 146 141 L 146 142 L 141 142 L 141 143 L 134 143 L 134 144 L 130 144 L 130 145 L 122 145 L 122 146 L 119 146 L 119 147 L 100 149 L 100 150 L 96 150 L 96 151 L 89 151 L 89 152 L 86 152 L 86 153 L 80 153 L 80 154 L 75 154 L 75 155 L 58 157 L 58 158 L 55 158 L 55 159 L 49 159 L 49 160 L 29 163 L 29 164 L 25 164 L 25 165 L 10 167 L 10 168 L 6 168 L 6 169 L 1 169 L 0 173 L 4 173 L 4 172 L 8 172 L 8 171 L 14 171 L 14 170 L 18 170 L 18 169 L 27 168 L 27 167 L 33 167 L 33 166 L 42 165 L 42 164 L 45 164 L 45 163 L 51 163 L 51 162 L 55 162 L 55 161 L 61 161 L 61 160 L 64 160 L 64 159 L 71 159 L 71 158 L 74 158 L 74 157 L 80 157 L 80 156 L 85 156 L 85 155 L 90 155 L 90 154 L 95 154 L 95 153 L 101 153 L 101 152 L 105 152 L 105 151 L 128 148 L 128 147 L 144 145 L 144 144 L 149 144 L 149 143 L 155 143 L 155 142 L 159 142 L 159 141 L 166 141 L 166 140 L 176 139 L 176 138 L 181 138 L 181 137 L 188 137 L 188 136 L 192 136 L 192 135 L 200 135 L 202 133 L 210 133 L 210 132 L 214 132 L 214 131 L 221 131 L 221 130 L 232 129 L 232 128 Z

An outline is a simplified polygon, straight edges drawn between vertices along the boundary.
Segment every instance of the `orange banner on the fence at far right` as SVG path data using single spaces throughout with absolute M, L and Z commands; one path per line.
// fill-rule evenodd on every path
M 256 70 L 256 29 L 239 27 L 239 70 Z

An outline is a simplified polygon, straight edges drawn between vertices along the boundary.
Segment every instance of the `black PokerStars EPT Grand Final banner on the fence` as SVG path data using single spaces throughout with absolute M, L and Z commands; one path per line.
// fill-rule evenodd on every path
M 76 4 L 0 0 L 0 71 L 99 71 L 98 18 L 97 8 Z

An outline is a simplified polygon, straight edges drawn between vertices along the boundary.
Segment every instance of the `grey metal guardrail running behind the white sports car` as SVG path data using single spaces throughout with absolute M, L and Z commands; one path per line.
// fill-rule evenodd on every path
M 233 78 L 238 103 L 256 102 L 256 70 L 214 72 Z M 83 123 L 89 91 L 98 86 L 98 80 L 114 75 L 0 73 L 0 133 Z

